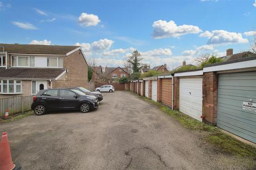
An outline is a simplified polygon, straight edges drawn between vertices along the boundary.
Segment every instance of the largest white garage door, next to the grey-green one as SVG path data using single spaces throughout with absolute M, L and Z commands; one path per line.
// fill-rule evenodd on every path
M 202 78 L 180 79 L 180 112 L 202 121 Z

